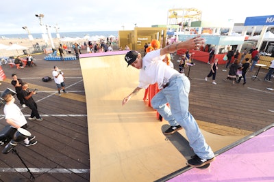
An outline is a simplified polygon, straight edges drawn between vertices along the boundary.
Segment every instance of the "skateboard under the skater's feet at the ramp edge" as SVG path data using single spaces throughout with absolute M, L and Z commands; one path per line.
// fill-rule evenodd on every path
M 164 131 L 169 129 L 169 127 L 170 125 L 162 125 L 163 134 L 164 134 Z M 169 140 L 174 145 L 174 147 L 186 158 L 186 160 L 190 160 L 192 157 L 196 155 L 194 151 L 191 149 L 191 147 L 189 146 L 188 140 L 186 140 L 184 136 L 179 134 L 179 132 L 175 132 L 174 134 L 170 134 L 170 135 L 164 134 L 164 136 L 166 136 L 165 140 Z M 186 165 L 188 165 L 188 163 L 186 163 Z M 188 166 L 193 167 L 190 165 Z M 209 167 L 210 167 L 210 163 L 201 167 L 196 167 L 196 168 L 206 169 Z

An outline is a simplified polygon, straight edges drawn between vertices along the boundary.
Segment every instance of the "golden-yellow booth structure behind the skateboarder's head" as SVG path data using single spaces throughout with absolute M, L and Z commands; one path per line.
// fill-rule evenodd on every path
M 119 31 L 119 44 L 125 49 L 129 46 L 133 50 L 143 50 L 145 43 L 159 40 L 161 46 L 166 45 L 166 25 L 158 27 L 135 27 L 130 31 Z

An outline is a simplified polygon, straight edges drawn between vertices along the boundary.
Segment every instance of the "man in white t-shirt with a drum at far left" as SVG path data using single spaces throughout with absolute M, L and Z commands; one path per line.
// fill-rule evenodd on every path
M 14 104 L 14 97 L 11 94 L 7 94 L 4 96 L 5 106 L 4 106 L 4 114 L 5 114 L 5 121 L 12 126 L 12 130 L 9 132 L 9 137 L 13 138 L 15 132 L 18 128 L 27 129 L 29 126 L 27 124 L 27 120 L 25 119 L 23 113 L 21 112 L 20 108 Z M 37 141 L 34 140 L 35 136 L 29 136 L 25 138 L 25 146 L 29 147 L 32 145 L 36 145 Z

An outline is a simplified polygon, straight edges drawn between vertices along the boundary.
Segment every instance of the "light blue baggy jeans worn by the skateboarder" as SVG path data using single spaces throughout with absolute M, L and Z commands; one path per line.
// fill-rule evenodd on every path
M 188 112 L 190 81 L 183 74 L 176 74 L 169 80 L 169 86 L 158 92 L 151 105 L 170 125 L 181 125 L 186 130 L 190 147 L 203 159 L 211 159 L 214 153 L 206 143 L 194 117 Z M 169 103 L 169 106 L 166 106 Z

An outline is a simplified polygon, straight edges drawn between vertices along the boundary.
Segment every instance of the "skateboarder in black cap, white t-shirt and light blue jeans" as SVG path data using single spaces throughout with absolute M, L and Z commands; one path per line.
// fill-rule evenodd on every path
M 142 58 L 136 50 L 130 50 L 125 55 L 127 66 L 132 65 L 140 70 L 139 85 L 127 95 L 122 102 L 124 106 L 132 96 L 136 95 L 140 89 L 146 89 L 150 84 L 158 83 L 158 92 L 151 100 L 151 105 L 169 123 L 173 123 L 164 134 L 169 134 L 177 130 L 181 125 L 186 130 L 186 136 L 190 147 L 195 152 L 195 156 L 188 160 L 188 165 L 201 167 L 215 160 L 214 153 L 199 130 L 197 121 L 188 111 L 188 95 L 190 92 L 190 80 L 184 74 L 179 74 L 177 70 L 169 67 L 162 61 L 167 53 L 175 52 L 182 48 L 199 50 L 205 40 L 200 36 L 190 40 L 171 44 L 164 48 L 148 52 Z M 166 106 L 169 103 L 169 106 Z

